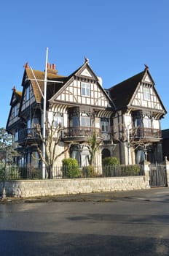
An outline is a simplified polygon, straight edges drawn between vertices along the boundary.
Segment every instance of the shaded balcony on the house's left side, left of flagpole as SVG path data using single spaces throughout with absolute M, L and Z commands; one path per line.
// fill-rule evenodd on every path
M 39 141 L 39 132 L 36 128 L 21 129 L 18 131 L 17 143 L 20 145 L 37 143 Z

